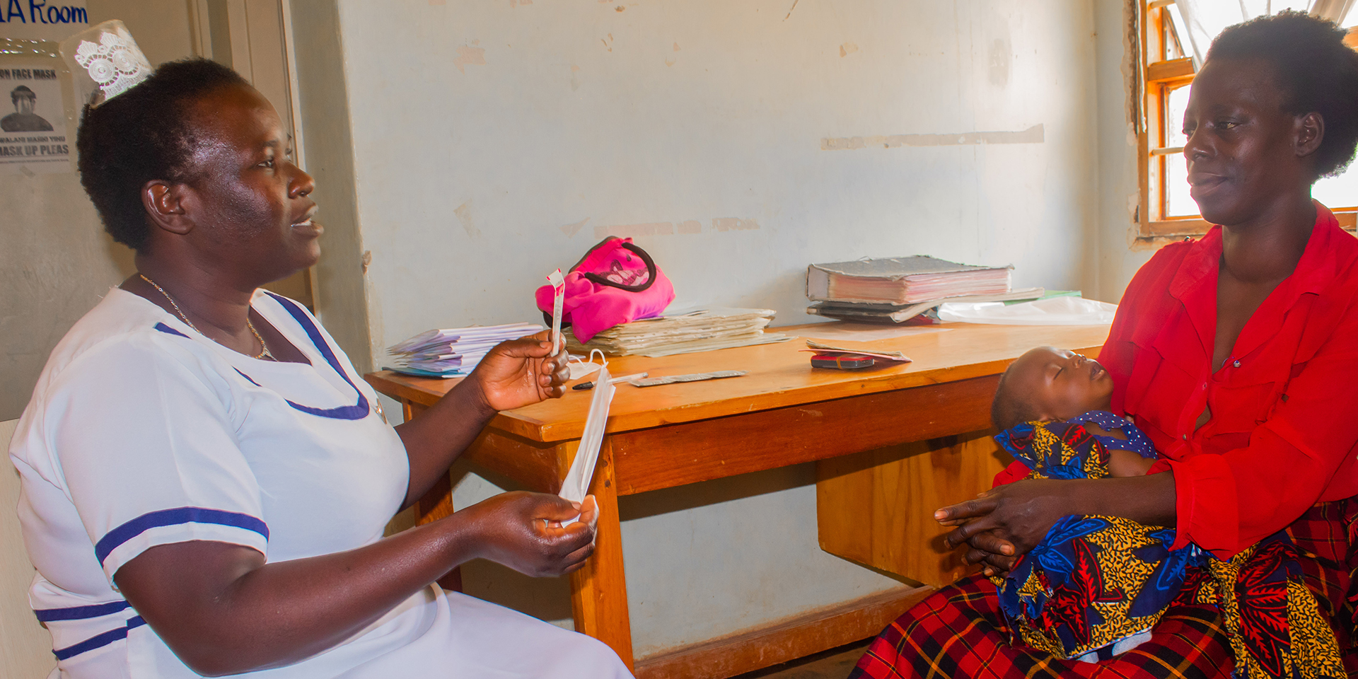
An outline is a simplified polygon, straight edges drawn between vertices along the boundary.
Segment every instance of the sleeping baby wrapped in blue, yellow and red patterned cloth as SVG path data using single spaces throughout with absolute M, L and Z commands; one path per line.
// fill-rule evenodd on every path
M 1001 429 L 995 440 L 1028 467 L 1025 478 L 1143 475 L 1154 447 L 1108 411 L 1112 388 L 1097 361 L 1039 346 L 999 378 L 990 406 Z M 1019 478 L 1006 471 L 995 481 Z M 1306 668 L 1297 676 L 1344 676 L 1338 642 L 1302 581 L 1286 531 L 1229 559 L 1191 543 L 1172 550 L 1173 543 L 1168 527 L 1061 517 L 1010 573 L 990 579 L 1012 641 L 1067 660 L 1105 660 L 1148 641 L 1177 600 L 1221 611 L 1234 676 L 1293 676 L 1293 668 Z M 1232 595 L 1241 587 L 1259 591 L 1260 583 L 1270 583 L 1272 596 Z

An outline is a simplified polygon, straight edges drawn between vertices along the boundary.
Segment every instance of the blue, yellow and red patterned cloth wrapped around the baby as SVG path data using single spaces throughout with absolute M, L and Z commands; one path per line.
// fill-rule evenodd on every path
M 1093 422 L 1126 439 L 1095 436 Z M 1025 422 L 995 436 L 1028 478 L 1103 478 L 1108 447 L 1153 456 L 1145 435 L 1112 413 L 1065 422 Z M 1124 650 L 1145 638 L 1176 602 L 1222 610 L 1236 676 L 1344 676 L 1335 637 L 1302 584 L 1297 549 L 1278 532 L 1221 561 L 1196 546 L 1171 550 L 1175 531 L 1116 516 L 1065 516 L 991 577 L 1014 642 L 1063 659 Z M 1187 583 L 1187 587 L 1186 587 Z

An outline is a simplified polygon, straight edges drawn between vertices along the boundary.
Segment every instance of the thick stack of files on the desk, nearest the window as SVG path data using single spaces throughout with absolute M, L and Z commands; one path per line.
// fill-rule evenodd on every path
M 945 301 L 1043 296 L 1042 288 L 1013 289 L 1012 270 L 925 255 L 813 263 L 807 269 L 807 297 L 813 301 L 807 312 L 862 323 L 904 323 Z

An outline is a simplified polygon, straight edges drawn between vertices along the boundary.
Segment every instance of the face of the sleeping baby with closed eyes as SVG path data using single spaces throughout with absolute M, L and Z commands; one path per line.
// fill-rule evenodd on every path
M 1078 353 L 1039 346 L 1019 357 L 1006 388 L 1021 390 L 1043 420 L 1069 420 L 1090 410 L 1108 410 L 1112 376 L 1099 361 Z

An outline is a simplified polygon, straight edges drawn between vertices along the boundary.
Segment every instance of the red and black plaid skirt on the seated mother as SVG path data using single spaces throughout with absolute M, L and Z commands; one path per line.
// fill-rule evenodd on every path
M 1358 676 L 1353 644 L 1353 568 L 1348 531 L 1358 527 L 1358 502 L 1320 502 L 1287 532 L 1312 555 L 1301 565 L 1344 653 L 1348 676 Z M 995 585 L 980 576 L 959 580 L 896 618 L 868 646 L 849 679 L 904 678 L 1219 678 L 1234 661 L 1221 615 L 1211 606 L 1172 606 L 1152 630 L 1150 641 L 1103 663 L 1061 660 L 1027 646 L 1009 645 Z

